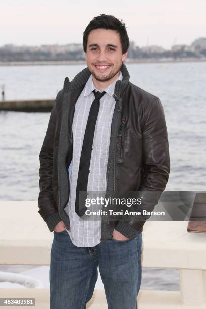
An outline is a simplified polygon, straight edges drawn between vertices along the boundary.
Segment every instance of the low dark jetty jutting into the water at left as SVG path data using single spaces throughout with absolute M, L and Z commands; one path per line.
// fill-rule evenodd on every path
M 0 101 L 0 111 L 50 112 L 54 101 L 54 99 L 5 100 Z

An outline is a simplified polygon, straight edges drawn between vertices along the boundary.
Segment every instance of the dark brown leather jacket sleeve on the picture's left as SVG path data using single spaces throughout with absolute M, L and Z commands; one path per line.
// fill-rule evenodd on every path
M 43 145 L 41 147 L 41 151 L 39 153 L 39 197 L 38 197 L 38 207 L 39 214 L 44 219 L 50 216 L 53 217 L 53 221 L 55 219 L 54 224 L 58 223 L 61 218 L 58 215 L 58 209 L 56 202 L 53 196 L 52 189 L 52 175 L 53 175 L 53 144 L 55 137 L 55 127 L 56 127 L 56 118 L 57 118 L 57 100 L 59 99 L 61 91 L 58 92 L 57 97 L 55 99 L 52 113 L 50 115 L 48 128 L 46 131 L 46 135 L 43 141 Z M 53 224 L 53 226 L 55 226 Z M 50 228 L 51 230 L 51 228 Z

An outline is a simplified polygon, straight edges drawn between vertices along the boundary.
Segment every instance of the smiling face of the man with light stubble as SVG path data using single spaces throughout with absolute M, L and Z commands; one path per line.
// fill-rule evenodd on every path
M 116 78 L 127 52 L 122 55 L 120 36 L 115 30 L 95 29 L 88 35 L 85 57 L 93 77 L 104 82 Z

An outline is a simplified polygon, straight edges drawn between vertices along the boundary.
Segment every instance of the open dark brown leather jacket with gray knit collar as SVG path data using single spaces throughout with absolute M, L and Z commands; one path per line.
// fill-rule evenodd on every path
M 110 197 L 114 191 L 140 191 L 145 198 L 151 191 L 162 192 L 168 181 L 170 158 L 168 135 L 164 111 L 160 99 L 129 81 L 124 64 L 122 81 L 117 81 L 113 97 L 116 100 L 111 127 L 109 159 L 107 167 L 107 191 Z M 78 73 L 58 92 L 48 124 L 46 136 L 39 154 L 39 213 L 50 231 L 63 220 L 70 228 L 69 217 L 64 211 L 69 199 L 68 167 L 72 160 L 72 121 L 75 103 L 90 76 L 88 68 Z M 147 204 L 149 211 L 157 199 Z M 144 204 L 144 208 L 146 204 Z M 139 206 L 130 210 L 139 210 Z M 108 215 L 106 226 L 115 227 L 128 238 L 142 231 L 148 217 L 130 216 L 113 220 Z M 105 219 L 104 219 L 105 220 Z M 106 232 L 102 229 L 101 240 Z

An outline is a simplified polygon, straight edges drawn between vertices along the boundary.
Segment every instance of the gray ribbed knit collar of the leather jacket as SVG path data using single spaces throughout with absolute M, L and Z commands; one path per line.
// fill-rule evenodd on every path
M 128 81 L 129 81 L 129 72 L 127 71 L 126 65 L 122 63 L 121 66 L 121 72 L 122 72 L 122 80 L 118 80 L 115 84 L 115 94 L 117 96 L 120 96 L 123 90 L 126 88 Z M 91 75 L 88 67 L 83 69 L 81 72 L 79 72 L 73 80 L 70 82 L 69 78 L 66 77 L 64 81 L 64 93 L 67 93 L 68 91 L 73 91 L 83 85 L 87 82 L 89 79 L 89 76 Z

